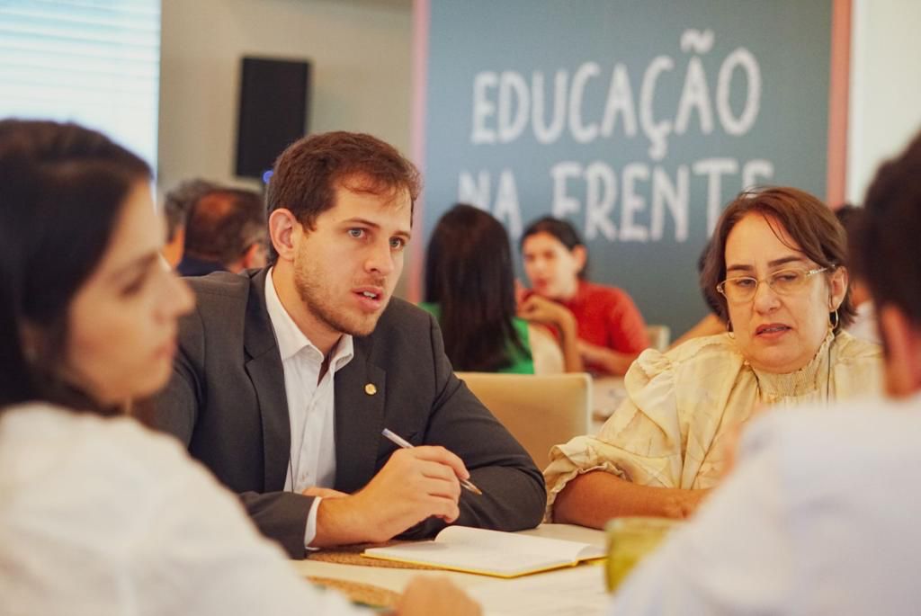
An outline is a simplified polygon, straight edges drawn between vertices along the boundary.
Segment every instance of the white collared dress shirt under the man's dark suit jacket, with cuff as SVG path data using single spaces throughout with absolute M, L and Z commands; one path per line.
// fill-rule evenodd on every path
M 352 361 L 352 336 L 343 334 L 332 351 L 329 369 L 320 377 L 323 354 L 291 319 L 275 292 L 274 268 L 265 276 L 265 308 L 272 321 L 275 341 L 285 371 L 285 394 L 291 425 L 291 452 L 285 478 L 286 492 L 303 492 L 311 486 L 332 488 L 336 479 L 335 400 L 333 377 Z M 304 545 L 317 534 L 317 508 L 313 502 L 304 531 Z

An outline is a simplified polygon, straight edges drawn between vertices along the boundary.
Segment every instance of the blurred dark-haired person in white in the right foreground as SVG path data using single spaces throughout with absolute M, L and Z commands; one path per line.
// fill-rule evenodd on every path
M 921 136 L 883 164 L 852 236 L 888 400 L 764 413 L 694 519 L 624 582 L 614 614 L 912 614 L 921 546 Z

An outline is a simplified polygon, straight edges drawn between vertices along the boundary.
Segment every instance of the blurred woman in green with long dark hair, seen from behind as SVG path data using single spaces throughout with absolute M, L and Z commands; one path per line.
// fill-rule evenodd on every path
M 572 313 L 541 297 L 531 299 L 537 301 L 516 306 L 511 247 L 505 227 L 492 215 L 457 204 L 438 220 L 426 251 L 420 306 L 438 320 L 455 370 L 580 371 Z M 542 326 L 554 328 L 561 343 Z

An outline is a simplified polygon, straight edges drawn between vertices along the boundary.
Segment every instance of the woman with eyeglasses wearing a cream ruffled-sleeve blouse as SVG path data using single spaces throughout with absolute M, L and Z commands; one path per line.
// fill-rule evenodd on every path
M 554 447 L 548 516 L 595 528 L 687 517 L 756 409 L 880 391 L 880 348 L 844 331 L 854 316 L 846 250 L 832 211 L 807 192 L 768 188 L 729 203 L 701 273 L 728 331 L 640 355 L 628 399 L 599 435 Z

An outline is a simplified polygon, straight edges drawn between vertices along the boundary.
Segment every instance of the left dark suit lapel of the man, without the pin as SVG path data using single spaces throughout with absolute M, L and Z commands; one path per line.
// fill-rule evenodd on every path
M 285 489 L 288 459 L 291 455 L 291 424 L 285 391 L 285 369 L 278 354 L 272 321 L 265 308 L 267 272 L 267 269 L 260 270 L 251 279 L 243 345 L 249 357 L 246 371 L 256 391 L 262 420 L 263 489 L 275 492 Z

